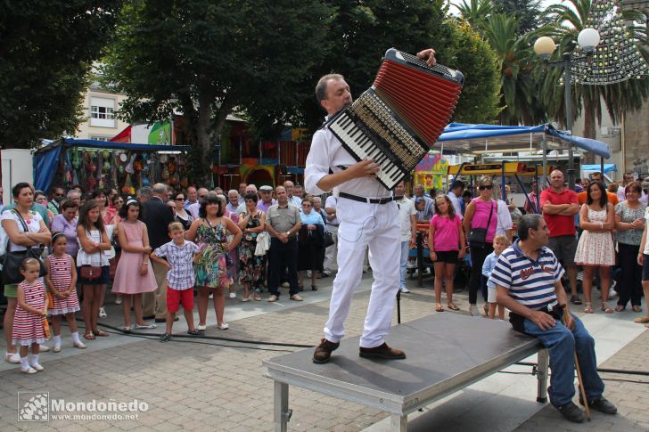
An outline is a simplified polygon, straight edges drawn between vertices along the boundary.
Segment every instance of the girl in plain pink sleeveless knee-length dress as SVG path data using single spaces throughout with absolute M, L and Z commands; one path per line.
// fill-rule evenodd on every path
M 142 222 L 140 203 L 128 200 L 119 209 L 123 219 L 117 228 L 121 257 L 112 282 L 112 292 L 122 295 L 124 331 L 131 331 L 131 302 L 136 312 L 136 329 L 155 329 L 155 324 L 144 322 L 142 316 L 142 294 L 158 289 L 153 268 L 149 260 L 152 249 L 149 234 Z

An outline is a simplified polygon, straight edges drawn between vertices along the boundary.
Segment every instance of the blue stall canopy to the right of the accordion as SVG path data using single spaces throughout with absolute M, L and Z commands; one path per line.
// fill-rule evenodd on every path
M 611 151 L 606 143 L 566 134 L 548 124 L 539 126 L 497 126 L 451 123 L 446 126 L 438 142 L 444 143 L 445 152 L 490 151 L 499 153 L 512 151 L 512 149 L 523 151 L 522 146 L 529 147 L 530 151 L 536 151 L 539 149 L 538 144 L 543 139 L 546 140 L 547 149 L 550 150 L 561 150 L 574 145 L 602 158 L 611 157 Z

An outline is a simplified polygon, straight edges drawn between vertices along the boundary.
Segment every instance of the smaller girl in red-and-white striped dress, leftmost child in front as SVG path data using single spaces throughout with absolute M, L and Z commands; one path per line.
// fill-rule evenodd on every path
M 43 322 L 47 317 L 45 305 L 45 285 L 38 277 L 40 263 L 36 258 L 26 258 L 21 264 L 21 274 L 25 278 L 18 285 L 18 307 L 13 318 L 12 344 L 21 347 L 21 372 L 43 371 L 38 363 L 40 345 L 45 342 Z M 28 349 L 31 346 L 31 361 Z

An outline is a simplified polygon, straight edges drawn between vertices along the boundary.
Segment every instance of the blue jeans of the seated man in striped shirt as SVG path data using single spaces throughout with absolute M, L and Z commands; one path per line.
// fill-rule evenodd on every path
M 549 330 L 539 329 L 528 319 L 524 322 L 525 332 L 537 337 L 549 352 L 552 375 L 547 393 L 550 402 L 557 407 L 571 402 L 575 395 L 575 347 L 587 399 L 597 399 L 604 392 L 604 382 L 597 375 L 595 339 L 579 318 L 572 315 L 572 319 L 575 321 L 572 331 L 560 321 Z

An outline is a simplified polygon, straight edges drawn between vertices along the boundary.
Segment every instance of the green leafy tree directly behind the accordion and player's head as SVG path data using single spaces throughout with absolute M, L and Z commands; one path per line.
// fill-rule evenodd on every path
M 496 118 L 494 54 L 471 29 L 446 19 L 448 9 L 442 0 L 329 0 L 327 3 L 335 10 L 330 34 L 337 45 L 308 82 L 311 94 L 318 77 L 338 72 L 357 96 L 372 85 L 388 48 L 417 53 L 433 46 L 440 63 L 461 70 L 465 76 L 454 118 L 480 122 Z M 309 130 L 314 131 L 322 124 L 324 111 L 314 96 L 305 100 L 301 112 L 300 120 Z

